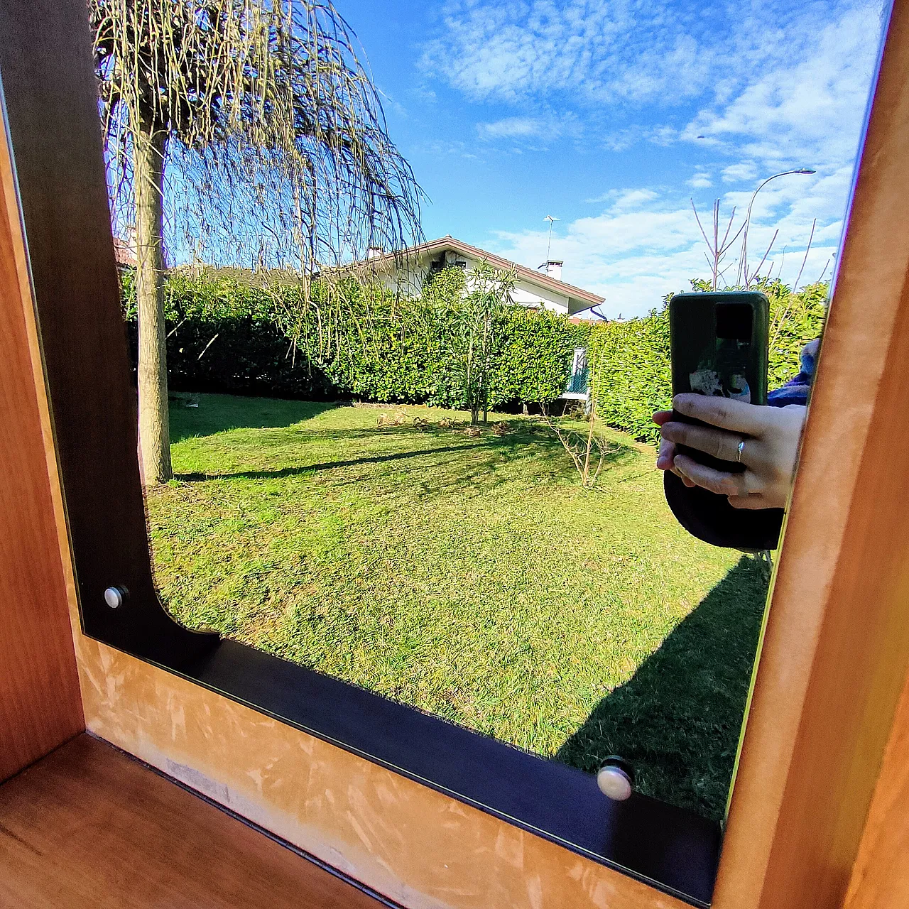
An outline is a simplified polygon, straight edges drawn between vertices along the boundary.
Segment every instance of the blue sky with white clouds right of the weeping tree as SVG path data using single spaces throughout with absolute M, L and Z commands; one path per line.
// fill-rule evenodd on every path
M 336 0 L 395 143 L 451 234 L 641 315 L 707 273 L 690 197 L 744 215 L 774 275 L 831 261 L 882 29 L 881 3 Z M 750 255 L 754 265 L 754 254 Z M 832 267 L 827 267 L 827 275 Z M 734 272 L 734 269 L 733 269 Z

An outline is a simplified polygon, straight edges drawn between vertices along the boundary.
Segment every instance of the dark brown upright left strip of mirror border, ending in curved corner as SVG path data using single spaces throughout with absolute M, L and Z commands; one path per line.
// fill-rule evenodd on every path
M 85 2 L 0 0 L 0 35 L 83 626 L 131 653 L 179 660 L 216 636 L 176 625 L 152 583 Z M 129 590 L 128 608 L 105 605 L 112 585 Z

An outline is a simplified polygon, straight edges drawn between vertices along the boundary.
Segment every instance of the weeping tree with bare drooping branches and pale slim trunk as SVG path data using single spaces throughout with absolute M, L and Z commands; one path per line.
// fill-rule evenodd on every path
M 139 442 L 171 476 L 164 269 L 307 276 L 419 236 L 421 192 L 318 0 L 89 0 L 115 231 L 135 228 Z M 308 295 L 303 295 L 307 297 Z

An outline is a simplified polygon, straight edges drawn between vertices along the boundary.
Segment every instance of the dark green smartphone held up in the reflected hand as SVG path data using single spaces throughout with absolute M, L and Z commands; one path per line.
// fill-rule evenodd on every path
M 756 291 L 676 294 L 669 303 L 673 395 L 694 392 L 767 403 L 767 335 L 770 304 Z M 699 423 L 673 413 L 674 420 Z M 742 470 L 704 452 L 679 446 L 701 464 Z

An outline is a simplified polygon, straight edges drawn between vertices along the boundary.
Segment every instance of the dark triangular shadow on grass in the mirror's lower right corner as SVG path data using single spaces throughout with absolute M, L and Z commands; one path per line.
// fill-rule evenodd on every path
M 766 592 L 760 565 L 743 556 L 634 676 L 596 705 L 556 760 L 595 772 L 620 754 L 644 794 L 721 820 Z

